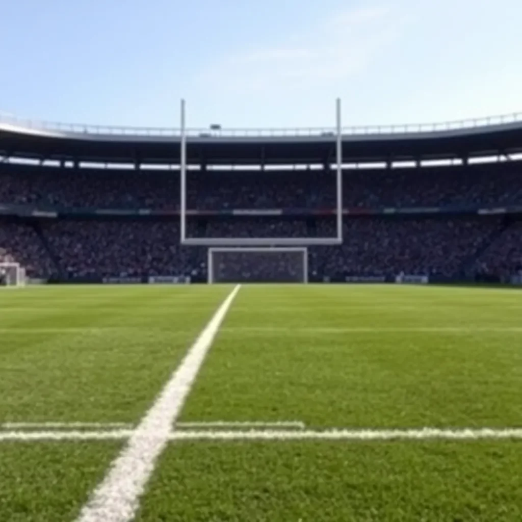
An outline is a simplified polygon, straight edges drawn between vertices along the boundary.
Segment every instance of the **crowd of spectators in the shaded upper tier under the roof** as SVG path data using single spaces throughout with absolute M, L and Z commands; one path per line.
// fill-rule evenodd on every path
M 57 207 L 179 207 L 178 171 L 115 171 L 0 165 L 0 204 Z M 334 208 L 334 172 L 190 171 L 187 208 Z M 522 171 L 516 162 L 468 167 L 347 170 L 348 208 L 522 204 Z

